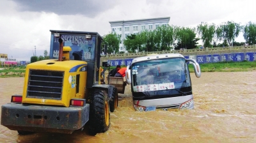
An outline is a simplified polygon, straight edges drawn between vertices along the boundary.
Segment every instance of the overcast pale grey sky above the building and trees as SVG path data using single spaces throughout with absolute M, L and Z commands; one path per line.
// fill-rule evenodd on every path
M 50 29 L 111 31 L 109 21 L 170 17 L 170 25 L 256 23 L 255 0 L 1 0 L 0 54 L 30 58 L 49 52 Z M 244 41 L 241 34 L 236 41 Z

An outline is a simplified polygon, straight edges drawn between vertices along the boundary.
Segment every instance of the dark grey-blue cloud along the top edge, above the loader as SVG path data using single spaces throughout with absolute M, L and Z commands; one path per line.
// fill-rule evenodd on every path
M 99 13 L 113 8 L 118 1 L 102 0 L 12 0 L 19 5 L 19 11 L 45 11 L 57 15 L 84 15 L 85 17 L 96 17 Z

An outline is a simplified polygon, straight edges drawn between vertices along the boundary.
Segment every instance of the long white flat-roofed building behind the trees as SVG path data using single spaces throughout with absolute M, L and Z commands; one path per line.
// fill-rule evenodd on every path
M 169 24 L 170 17 L 160 17 L 154 19 L 136 19 L 136 20 L 122 20 L 111 21 L 111 31 L 121 35 L 121 42 L 119 45 L 119 52 L 125 51 L 124 40 L 127 35 L 138 34 L 141 31 L 148 29 L 154 30 L 157 26 Z

